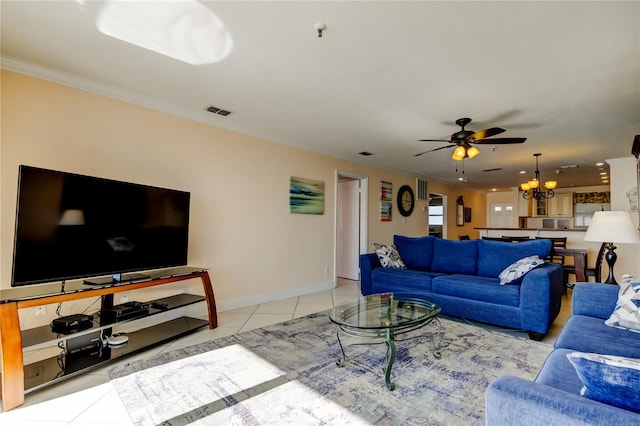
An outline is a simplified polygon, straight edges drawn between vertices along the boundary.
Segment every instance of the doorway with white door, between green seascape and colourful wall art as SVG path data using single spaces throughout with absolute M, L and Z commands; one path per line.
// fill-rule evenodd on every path
M 360 280 L 360 254 L 367 251 L 366 176 L 338 171 L 336 175 L 336 276 Z

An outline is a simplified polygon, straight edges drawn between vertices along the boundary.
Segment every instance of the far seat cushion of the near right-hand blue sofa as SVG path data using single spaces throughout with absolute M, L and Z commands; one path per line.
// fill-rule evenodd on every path
M 605 325 L 602 318 L 571 315 L 554 344 L 578 352 L 640 358 L 640 336 Z

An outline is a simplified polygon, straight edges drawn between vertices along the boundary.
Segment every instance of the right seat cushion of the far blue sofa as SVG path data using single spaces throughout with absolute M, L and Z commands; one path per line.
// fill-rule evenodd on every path
M 501 286 L 497 278 L 469 275 L 443 275 L 431 281 L 435 294 L 489 302 L 496 305 L 519 306 L 520 286 Z

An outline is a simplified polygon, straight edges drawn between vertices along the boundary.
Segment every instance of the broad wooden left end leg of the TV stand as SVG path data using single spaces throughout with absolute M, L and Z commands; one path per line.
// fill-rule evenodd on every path
M 17 303 L 0 304 L 0 367 L 4 411 L 24 403 L 22 335 Z

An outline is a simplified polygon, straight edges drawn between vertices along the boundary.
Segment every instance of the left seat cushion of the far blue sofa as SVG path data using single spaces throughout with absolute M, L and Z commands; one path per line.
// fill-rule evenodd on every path
M 388 291 L 431 293 L 431 280 L 439 275 L 442 274 L 417 269 L 375 268 L 371 272 L 371 289 L 374 293 Z

